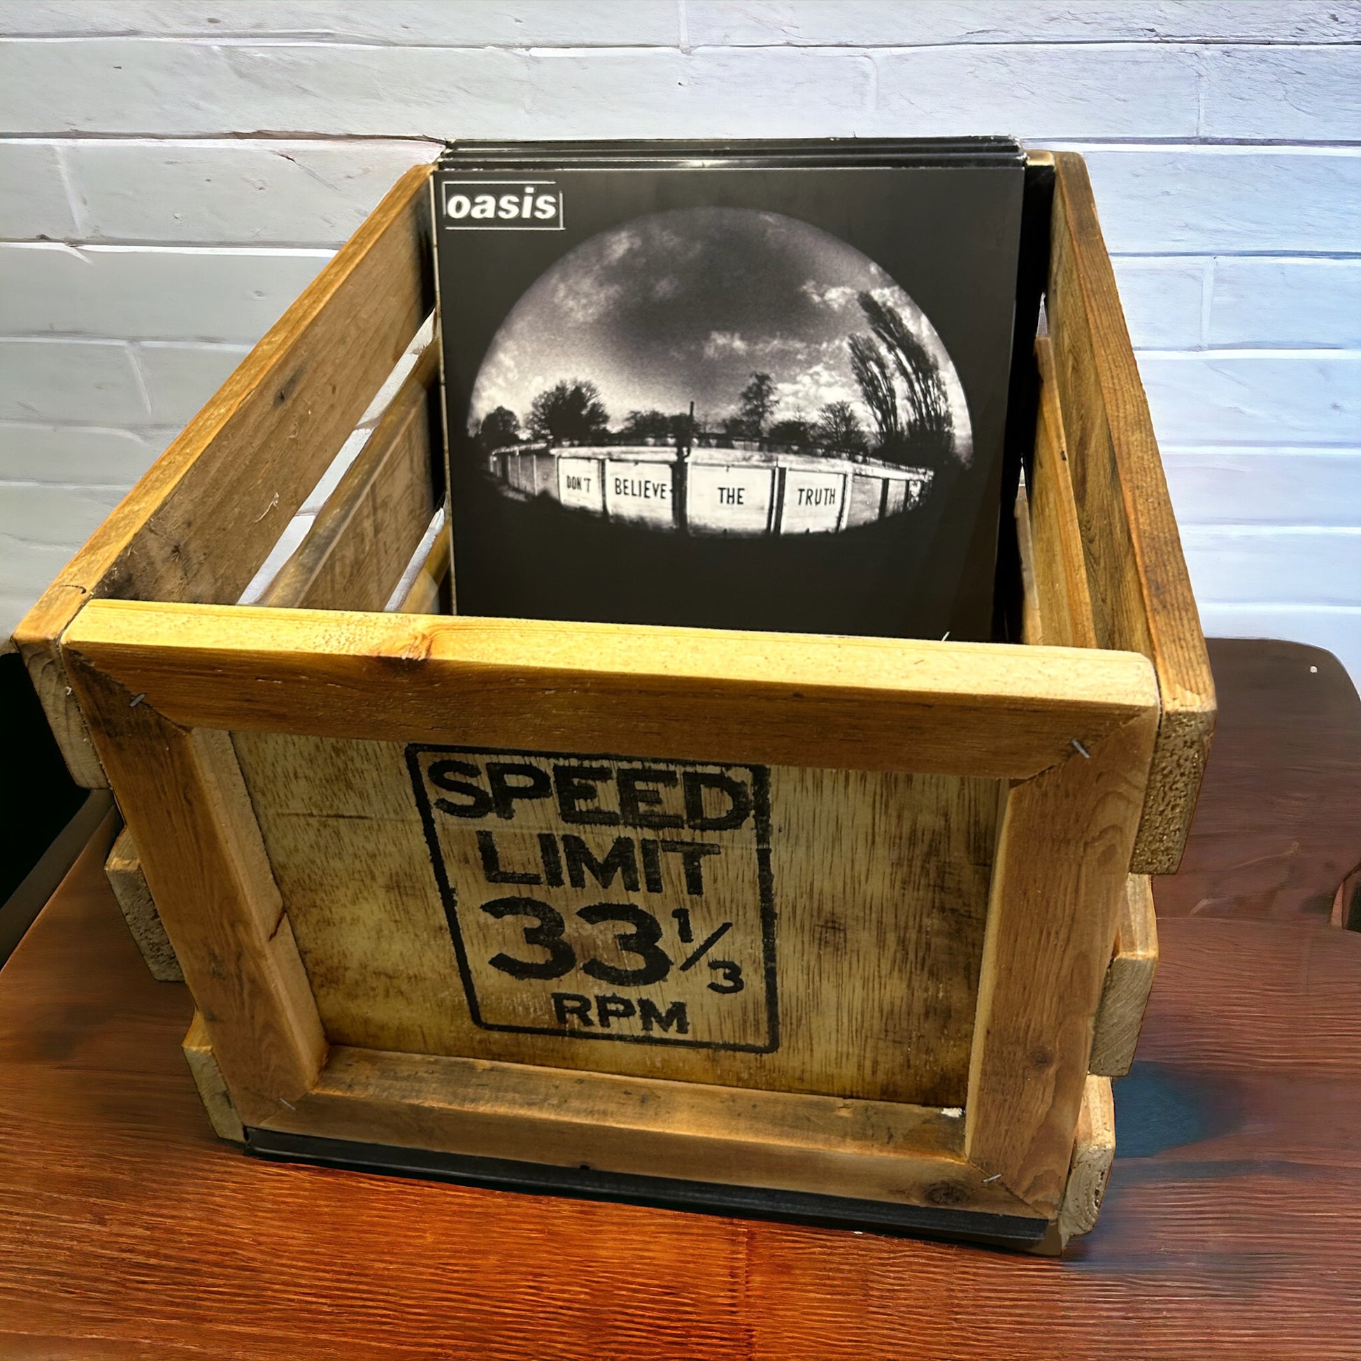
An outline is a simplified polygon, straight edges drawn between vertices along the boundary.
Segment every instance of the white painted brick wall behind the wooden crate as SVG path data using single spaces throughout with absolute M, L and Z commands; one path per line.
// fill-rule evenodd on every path
M 1361 679 L 1358 0 L 0 5 L 0 625 L 460 136 L 1087 158 L 1207 632 Z

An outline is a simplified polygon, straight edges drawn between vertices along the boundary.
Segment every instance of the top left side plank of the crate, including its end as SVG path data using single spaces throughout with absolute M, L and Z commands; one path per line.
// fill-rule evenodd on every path
M 63 633 L 91 597 L 240 597 L 430 312 L 427 180 L 397 181 L 15 630 L 78 783 L 108 781 Z

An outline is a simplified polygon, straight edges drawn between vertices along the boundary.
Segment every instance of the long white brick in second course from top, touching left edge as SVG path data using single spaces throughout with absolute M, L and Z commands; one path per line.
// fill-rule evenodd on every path
M 35 136 L 852 133 L 872 83 L 853 53 L 781 49 L 0 41 L 0 118 Z

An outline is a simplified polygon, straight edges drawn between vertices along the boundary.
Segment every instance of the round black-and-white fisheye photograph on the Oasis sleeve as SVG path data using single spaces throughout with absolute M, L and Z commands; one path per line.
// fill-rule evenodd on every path
M 689 535 L 808 535 L 908 514 L 969 464 L 930 320 L 793 218 L 682 208 L 583 242 L 524 293 L 468 434 L 506 497 Z

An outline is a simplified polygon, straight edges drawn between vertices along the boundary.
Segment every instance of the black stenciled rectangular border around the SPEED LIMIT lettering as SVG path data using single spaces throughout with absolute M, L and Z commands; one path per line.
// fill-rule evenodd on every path
M 761 891 L 761 954 L 765 969 L 765 999 L 766 999 L 766 1043 L 765 1044 L 738 1044 L 723 1040 L 672 1040 L 666 1036 L 651 1034 L 599 1034 L 585 1030 L 553 1029 L 551 1026 L 532 1025 L 498 1025 L 482 1019 L 482 1009 L 478 1004 L 478 994 L 472 985 L 472 969 L 468 964 L 468 953 L 463 943 L 463 931 L 459 927 L 459 904 L 453 885 L 444 863 L 444 852 L 440 847 L 440 834 L 434 825 L 434 807 L 430 803 L 426 789 L 425 773 L 421 769 L 421 755 L 423 753 L 456 753 L 460 755 L 495 755 L 495 757 L 529 757 L 531 759 L 565 759 L 565 761 L 612 761 L 623 765 L 637 765 L 652 762 L 668 766 L 720 766 L 727 770 L 747 770 L 751 774 L 751 806 L 757 837 L 757 882 Z M 501 1030 L 513 1034 L 551 1034 L 559 1040 L 607 1040 L 617 1044 L 663 1044 L 676 1045 L 686 1049 L 725 1049 L 742 1053 L 773 1053 L 780 1048 L 780 999 L 776 980 L 776 951 L 774 951 L 774 871 L 770 866 L 770 770 L 768 766 L 746 765 L 743 762 L 728 761 L 679 761 L 670 757 L 629 757 L 607 751 L 528 751 L 517 747 L 464 747 L 449 746 L 437 742 L 412 742 L 406 749 L 407 770 L 411 774 L 411 788 L 415 793 L 416 808 L 421 811 L 421 826 L 425 830 L 426 851 L 430 856 L 430 868 L 434 872 L 436 883 L 440 889 L 440 900 L 444 904 L 445 921 L 453 940 L 453 953 L 459 961 L 459 974 L 463 979 L 463 992 L 468 1003 L 468 1014 L 472 1023 L 482 1030 Z

